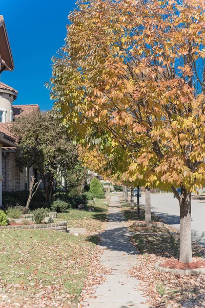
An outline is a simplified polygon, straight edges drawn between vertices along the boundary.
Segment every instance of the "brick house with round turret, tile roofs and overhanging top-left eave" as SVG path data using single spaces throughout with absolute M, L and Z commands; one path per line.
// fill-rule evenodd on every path
M 13 69 L 14 63 L 5 21 L 0 15 L 0 74 Z M 17 94 L 18 92 L 12 87 L 0 83 L 0 206 L 2 206 L 2 191 L 28 190 L 31 176 L 34 174 L 37 179 L 37 169 L 33 166 L 26 167 L 24 172 L 19 171 L 16 159 L 20 153 L 9 126 L 16 117 L 39 110 L 39 106 L 13 105 Z

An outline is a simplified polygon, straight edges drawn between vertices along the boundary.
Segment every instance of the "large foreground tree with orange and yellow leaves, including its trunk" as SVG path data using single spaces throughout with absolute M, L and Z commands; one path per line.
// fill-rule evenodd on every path
M 130 183 L 172 188 L 181 262 L 192 262 L 191 192 L 205 179 L 204 9 L 203 0 L 81 0 L 51 79 L 77 141 L 119 158 Z

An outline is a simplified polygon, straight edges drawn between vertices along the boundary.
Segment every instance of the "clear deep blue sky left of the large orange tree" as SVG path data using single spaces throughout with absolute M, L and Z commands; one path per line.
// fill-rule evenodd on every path
M 14 71 L 3 72 L 1 81 L 18 91 L 14 104 L 52 108 L 49 90 L 51 57 L 64 45 L 68 14 L 76 0 L 1 0 L 14 58 Z

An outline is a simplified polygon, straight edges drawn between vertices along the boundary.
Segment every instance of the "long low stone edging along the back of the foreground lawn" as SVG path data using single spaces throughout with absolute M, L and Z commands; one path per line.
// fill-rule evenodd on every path
M 1 229 L 46 229 L 60 232 L 67 232 L 67 221 L 58 221 L 54 223 L 17 225 L 17 226 L 0 226 Z

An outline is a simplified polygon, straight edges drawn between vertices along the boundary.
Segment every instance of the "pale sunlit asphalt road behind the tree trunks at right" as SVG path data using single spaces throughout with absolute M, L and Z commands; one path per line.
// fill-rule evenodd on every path
M 204 200 L 200 201 L 193 198 L 192 239 L 205 248 L 205 196 Z M 145 205 L 145 194 L 141 195 L 140 204 Z M 173 194 L 151 194 L 151 210 L 167 224 L 179 229 L 179 202 L 173 197 Z

